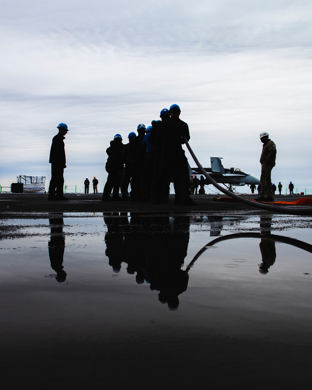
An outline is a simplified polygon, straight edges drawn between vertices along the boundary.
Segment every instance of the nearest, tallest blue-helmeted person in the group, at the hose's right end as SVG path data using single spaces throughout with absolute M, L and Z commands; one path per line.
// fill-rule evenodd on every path
M 161 200 L 161 192 L 165 185 L 164 177 L 167 172 L 172 175 L 175 191 L 175 204 L 183 206 L 196 206 L 197 202 L 190 197 L 190 173 L 188 159 L 182 148 L 183 136 L 190 139 L 187 123 L 179 118 L 180 107 L 173 104 L 169 108 L 170 119 L 161 124 L 161 160 L 160 173 L 154 187 L 154 203 Z

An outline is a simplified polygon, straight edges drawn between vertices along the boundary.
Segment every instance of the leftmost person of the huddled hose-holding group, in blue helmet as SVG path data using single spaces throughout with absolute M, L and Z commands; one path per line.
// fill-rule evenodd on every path
M 124 178 L 124 163 L 122 161 L 121 152 L 124 144 L 120 134 L 116 134 L 114 139 L 110 141 L 110 147 L 106 149 L 108 159 L 105 165 L 108 173 L 107 180 L 103 190 L 102 201 L 120 200 L 119 188 L 122 188 Z M 110 197 L 110 192 L 113 188 L 113 197 Z

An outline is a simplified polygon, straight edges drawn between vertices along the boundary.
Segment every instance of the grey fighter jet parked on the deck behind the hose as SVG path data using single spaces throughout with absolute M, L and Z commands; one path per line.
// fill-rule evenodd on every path
M 217 183 L 229 184 L 231 186 L 245 186 L 245 184 L 260 184 L 260 180 L 257 177 L 251 176 L 239 168 L 223 168 L 221 163 L 222 157 L 210 157 L 211 168 L 204 168 L 204 170 L 211 176 Z M 198 167 L 191 168 L 189 171 L 191 175 L 200 175 L 202 172 Z M 210 184 L 205 179 L 205 184 Z

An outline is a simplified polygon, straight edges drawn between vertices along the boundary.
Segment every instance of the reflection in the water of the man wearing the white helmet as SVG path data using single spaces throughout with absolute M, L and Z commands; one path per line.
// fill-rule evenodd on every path
M 261 216 L 261 233 L 271 234 L 271 223 L 271 216 Z M 262 275 L 266 275 L 269 272 L 269 268 L 275 263 L 276 260 L 275 240 L 261 238 L 259 246 L 262 255 L 262 263 L 259 266 L 259 272 Z

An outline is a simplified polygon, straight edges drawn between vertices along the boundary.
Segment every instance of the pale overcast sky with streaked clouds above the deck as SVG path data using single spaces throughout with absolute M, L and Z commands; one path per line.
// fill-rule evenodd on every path
M 46 176 L 67 123 L 69 188 L 106 180 L 106 148 L 162 108 L 181 107 L 203 166 L 260 177 L 261 131 L 275 184 L 311 188 L 311 1 L 0 0 L 0 184 Z M 190 165 L 190 154 L 186 152 Z M 243 190 L 241 188 L 241 190 Z M 245 191 L 248 190 L 245 187 Z

